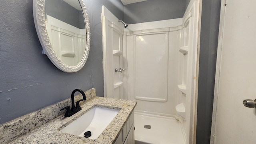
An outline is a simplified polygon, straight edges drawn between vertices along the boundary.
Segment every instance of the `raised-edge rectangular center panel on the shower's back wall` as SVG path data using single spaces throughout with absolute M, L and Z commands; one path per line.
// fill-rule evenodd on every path
M 167 101 L 168 32 L 135 36 L 135 95 L 138 100 Z

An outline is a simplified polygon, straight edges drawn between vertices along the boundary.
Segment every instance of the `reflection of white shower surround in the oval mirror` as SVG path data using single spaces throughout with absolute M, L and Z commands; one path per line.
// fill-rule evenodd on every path
M 60 60 L 69 66 L 79 64 L 86 48 L 86 29 L 76 28 L 49 15 L 45 24 L 52 47 Z

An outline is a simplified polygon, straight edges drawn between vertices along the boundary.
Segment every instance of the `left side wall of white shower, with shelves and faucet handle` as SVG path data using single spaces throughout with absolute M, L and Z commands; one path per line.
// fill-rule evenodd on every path
M 102 6 L 104 97 L 123 99 L 124 26 Z

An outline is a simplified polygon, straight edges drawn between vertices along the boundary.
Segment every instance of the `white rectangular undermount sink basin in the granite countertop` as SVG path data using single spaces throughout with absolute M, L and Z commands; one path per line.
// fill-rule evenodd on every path
M 119 111 L 110 108 L 94 107 L 60 131 L 82 137 L 84 137 L 85 132 L 90 131 L 92 136 L 89 138 L 95 140 Z

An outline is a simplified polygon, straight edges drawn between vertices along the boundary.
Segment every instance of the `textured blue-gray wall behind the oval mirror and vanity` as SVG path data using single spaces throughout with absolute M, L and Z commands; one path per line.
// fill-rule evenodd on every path
M 52 64 L 38 40 L 33 0 L 0 2 L 0 123 L 8 122 L 69 98 L 72 90 L 96 88 L 104 96 L 101 11 L 105 5 L 119 19 L 120 0 L 84 0 L 90 20 L 91 48 L 80 71 L 62 72 Z M 7 100 L 10 98 L 11 100 Z

